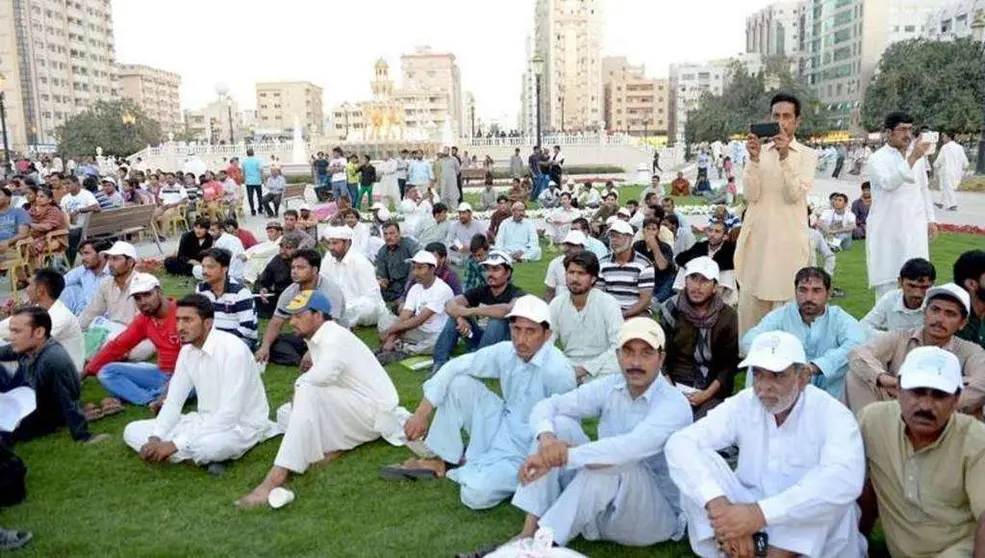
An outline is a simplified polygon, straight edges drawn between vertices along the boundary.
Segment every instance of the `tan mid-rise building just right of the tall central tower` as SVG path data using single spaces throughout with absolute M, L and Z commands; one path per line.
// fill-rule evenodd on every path
M 650 79 L 642 65 L 625 56 L 602 59 L 605 83 L 605 123 L 611 132 L 632 135 L 666 134 L 670 125 L 669 84 Z

